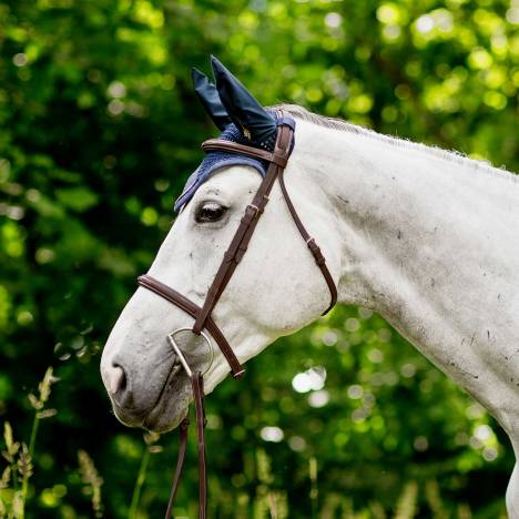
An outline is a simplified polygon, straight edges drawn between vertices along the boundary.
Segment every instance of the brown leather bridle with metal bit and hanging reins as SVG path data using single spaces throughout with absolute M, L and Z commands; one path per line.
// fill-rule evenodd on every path
M 237 153 L 255 159 L 261 159 L 262 161 L 268 162 L 268 169 L 265 173 L 265 176 L 254 195 L 253 201 L 246 206 L 245 213 L 242 216 L 240 226 L 234 234 L 231 245 L 224 254 L 223 261 L 216 272 L 214 281 L 207 292 L 205 301 L 200 307 L 187 297 L 183 296 L 175 289 L 170 286 L 161 283 L 154 277 L 145 274 L 139 277 L 138 282 L 144 288 L 147 288 L 155 294 L 160 295 L 170 303 L 176 305 L 179 308 L 184 311 L 186 314 L 191 315 L 195 319 L 191 332 L 195 335 L 199 335 L 205 340 L 213 355 L 212 343 L 210 337 L 204 333 L 204 329 L 213 337 L 214 342 L 218 345 L 222 354 L 225 356 L 230 367 L 231 373 L 234 378 L 240 378 L 245 373 L 245 369 L 240 364 L 238 359 L 234 355 L 232 347 L 226 340 L 223 333 L 220 330 L 216 323 L 211 317 L 211 314 L 217 304 L 221 295 L 225 291 L 227 283 L 230 282 L 234 271 L 236 269 L 238 263 L 243 258 L 245 252 L 247 251 L 248 243 L 254 234 L 256 224 L 265 210 L 265 206 L 268 202 L 268 194 L 271 193 L 272 186 L 274 185 L 275 180 L 279 182 L 279 186 L 285 199 L 288 211 L 291 212 L 292 218 L 308 246 L 308 250 L 314 256 L 315 263 L 319 267 L 326 284 L 328 285 L 330 293 L 330 304 L 327 309 L 323 313 L 325 315 L 328 313 L 335 303 L 337 302 L 337 287 L 332 277 L 332 274 L 326 266 L 325 257 L 320 252 L 315 240 L 307 233 L 303 222 L 301 221 L 294 204 L 292 203 L 288 192 L 286 191 L 285 181 L 283 177 L 284 170 L 291 156 L 292 149 L 294 145 L 294 131 L 295 131 L 295 121 L 286 112 L 277 112 L 277 138 L 274 145 L 274 151 L 261 150 L 257 147 L 247 146 L 236 142 L 224 141 L 218 139 L 211 139 L 202 143 L 202 149 L 205 152 L 211 151 L 225 151 L 227 153 Z M 183 333 L 190 328 L 181 328 L 167 336 L 172 348 L 174 349 L 176 356 L 179 357 L 184 370 L 186 372 L 191 385 L 193 388 L 193 400 L 195 404 L 195 416 L 196 416 L 196 434 L 199 438 L 199 518 L 205 519 L 207 516 L 207 478 L 206 478 L 206 465 L 205 465 L 205 438 L 204 438 L 204 428 L 205 428 L 205 413 L 204 413 L 204 388 L 203 388 L 203 374 L 193 372 L 185 359 L 184 354 L 175 340 L 176 336 L 180 333 Z M 211 365 L 210 365 L 211 367 Z M 207 368 L 208 369 L 208 368 Z M 179 488 L 179 481 L 182 472 L 182 467 L 185 457 L 186 441 L 187 441 L 187 426 L 189 419 L 185 418 L 180 425 L 180 448 L 179 448 L 179 458 L 176 462 L 176 469 L 173 476 L 172 489 L 170 495 L 170 501 L 167 503 L 166 519 L 171 518 L 173 511 L 173 503 L 176 497 L 176 490 Z

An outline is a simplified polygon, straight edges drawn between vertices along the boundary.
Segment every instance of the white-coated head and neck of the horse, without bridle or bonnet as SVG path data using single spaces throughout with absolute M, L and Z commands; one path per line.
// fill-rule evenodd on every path
M 497 418 L 517 458 L 518 177 L 299 106 L 282 108 L 297 122 L 287 189 L 326 256 L 339 302 L 372 308 L 391 323 Z M 207 180 L 175 220 L 150 274 L 201 305 L 260 182 L 248 166 L 223 167 Z M 207 204 L 222 216 L 200 223 L 196 215 Z M 328 302 L 276 183 L 213 317 L 244 363 L 317 319 Z M 173 364 L 166 336 L 192 323 L 146 289 L 130 299 L 101 363 L 123 423 L 164 431 L 185 416 L 191 386 L 185 376 L 166 384 Z M 217 354 L 206 393 L 227 373 Z M 515 519 L 518 467 L 507 490 Z

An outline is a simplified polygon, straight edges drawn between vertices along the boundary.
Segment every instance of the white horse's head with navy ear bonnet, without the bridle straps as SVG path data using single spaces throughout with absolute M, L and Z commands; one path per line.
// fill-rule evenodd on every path
M 279 131 L 275 111 L 264 109 L 215 58 L 212 65 L 215 84 L 196 70 L 193 82 L 203 106 L 223 131 L 221 139 L 272 152 Z M 299 145 L 297 133 L 285 172 L 291 199 L 313 235 L 327 243 L 329 213 L 323 211 L 319 193 L 309 189 L 305 164 L 298 159 Z M 208 153 L 175 204 L 179 215 L 149 274 L 202 307 L 266 169 L 261 159 Z M 246 254 L 211 314 L 241 363 L 327 308 L 329 292 L 308 253 L 312 245 L 301 238 L 282 189 L 274 183 Z M 186 415 L 190 379 L 167 337 L 174 330 L 191 329 L 193 323 L 183 309 L 144 287 L 131 297 L 101 359 L 102 378 L 122 423 L 164 431 Z M 204 373 L 210 393 L 230 367 L 212 344 L 214 337 L 208 337 L 207 345 L 205 336 L 187 333 L 179 339 L 179 347 L 190 366 Z

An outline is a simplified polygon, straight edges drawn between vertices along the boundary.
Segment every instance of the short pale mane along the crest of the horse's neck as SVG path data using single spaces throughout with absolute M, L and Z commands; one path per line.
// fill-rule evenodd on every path
M 464 165 L 466 167 L 471 167 L 472 170 L 482 173 L 489 173 L 491 175 L 503 177 L 509 181 L 519 183 L 519 175 L 511 173 L 505 166 L 496 167 L 491 165 L 488 161 L 469 159 L 467 155 L 458 151 L 446 151 L 440 147 L 416 143 L 406 139 L 384 135 L 381 133 L 375 132 L 374 130 L 369 130 L 367 128 L 358 126 L 356 124 L 343 121 L 342 119 L 318 115 L 317 113 L 309 112 L 308 110 L 306 110 L 303 106 L 299 106 L 298 104 L 282 103 L 277 104 L 276 106 L 273 106 L 273 109 L 285 110 L 286 112 L 294 115 L 296 119 L 308 121 L 318 126 L 329 128 L 333 130 L 338 130 L 340 132 L 355 133 L 357 135 L 364 135 L 369 139 L 384 142 L 391 146 L 399 146 L 407 150 L 420 151 L 429 155 Z

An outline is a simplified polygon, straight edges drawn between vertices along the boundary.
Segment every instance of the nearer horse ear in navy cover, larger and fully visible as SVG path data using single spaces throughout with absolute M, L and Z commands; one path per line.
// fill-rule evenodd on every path
M 275 135 L 277 126 L 274 118 L 214 55 L 211 57 L 211 64 L 220 99 L 244 136 L 261 144 Z

